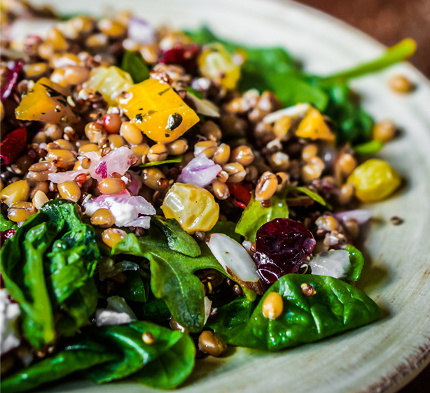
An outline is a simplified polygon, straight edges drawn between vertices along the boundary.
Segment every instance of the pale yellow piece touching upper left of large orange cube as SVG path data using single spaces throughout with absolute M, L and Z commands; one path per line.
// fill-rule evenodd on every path
M 109 105 L 117 105 L 118 95 L 125 92 L 133 85 L 129 73 L 118 69 L 116 66 L 97 67 L 90 73 L 87 86 L 102 93 Z

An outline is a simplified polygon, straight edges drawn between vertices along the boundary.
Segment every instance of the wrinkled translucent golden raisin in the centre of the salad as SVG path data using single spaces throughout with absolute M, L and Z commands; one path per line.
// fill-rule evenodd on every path
M 161 209 L 166 218 L 174 218 L 188 234 L 210 231 L 219 218 L 219 205 L 213 195 L 193 184 L 174 183 Z

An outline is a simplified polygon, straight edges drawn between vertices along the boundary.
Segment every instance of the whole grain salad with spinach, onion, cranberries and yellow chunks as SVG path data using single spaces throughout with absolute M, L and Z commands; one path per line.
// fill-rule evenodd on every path
M 228 345 L 360 327 L 356 248 L 401 177 L 349 80 L 283 48 L 132 13 L 1 8 L 1 390 L 76 375 L 178 387 Z M 408 80 L 403 80 L 401 91 Z

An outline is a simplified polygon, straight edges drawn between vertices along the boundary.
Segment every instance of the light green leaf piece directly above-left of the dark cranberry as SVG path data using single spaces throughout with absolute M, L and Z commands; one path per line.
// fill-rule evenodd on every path
M 285 194 L 275 194 L 270 198 L 270 206 L 263 207 L 257 201 L 254 194 L 249 201 L 247 208 L 243 211 L 239 222 L 236 225 L 236 233 L 244 236 L 247 241 L 256 241 L 258 229 L 266 222 L 275 218 L 288 218 L 289 209 L 286 205 Z

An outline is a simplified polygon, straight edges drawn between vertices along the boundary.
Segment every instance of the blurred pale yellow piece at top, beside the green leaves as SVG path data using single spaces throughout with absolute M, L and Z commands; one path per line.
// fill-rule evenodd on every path
M 233 62 L 221 43 L 204 45 L 197 64 L 202 76 L 214 80 L 228 90 L 235 89 L 240 79 L 240 66 Z

